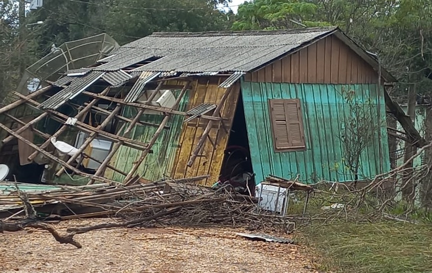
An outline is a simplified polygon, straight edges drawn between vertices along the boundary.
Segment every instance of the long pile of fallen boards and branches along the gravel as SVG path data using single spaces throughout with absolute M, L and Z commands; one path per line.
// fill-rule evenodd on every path
M 7 221 L 5 219 L 0 223 L 3 226 L 15 224 L 15 230 L 19 230 L 30 226 L 29 223 L 41 221 L 101 216 L 112 218 L 103 224 L 69 227 L 69 239 L 61 236 L 57 239 L 62 243 L 70 243 L 76 233 L 114 227 L 218 225 L 284 232 L 294 228 L 285 217 L 259 209 L 255 197 L 236 194 L 224 187 L 214 189 L 196 185 L 197 181 L 205 178 L 207 176 L 153 182 L 136 178 L 127 186 L 93 184 L 61 187 L 50 192 L 22 192 L 17 185 L 17 190 L 7 197 L 21 200 L 25 218 L 19 216 L 21 211 L 11 211 Z M 0 196 L 0 203 L 4 204 L 5 198 Z M 50 231 L 46 226 L 35 227 Z M 52 226 L 49 228 L 55 231 Z

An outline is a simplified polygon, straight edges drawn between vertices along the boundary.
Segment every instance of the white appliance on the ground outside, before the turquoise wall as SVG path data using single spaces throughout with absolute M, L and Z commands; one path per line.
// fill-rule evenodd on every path
M 287 206 L 286 188 L 259 183 L 255 187 L 255 197 L 260 198 L 259 207 L 272 212 L 285 214 Z

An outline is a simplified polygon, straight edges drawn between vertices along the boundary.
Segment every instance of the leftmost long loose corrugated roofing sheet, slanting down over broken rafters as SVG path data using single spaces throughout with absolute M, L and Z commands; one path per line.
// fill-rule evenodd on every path
M 73 99 L 75 96 L 83 92 L 86 88 L 100 79 L 104 72 L 90 72 L 89 74 L 76 78 L 72 83 L 65 87 L 63 90 L 53 95 L 46 101 L 40 104 L 40 108 L 43 109 L 57 109 L 67 100 Z

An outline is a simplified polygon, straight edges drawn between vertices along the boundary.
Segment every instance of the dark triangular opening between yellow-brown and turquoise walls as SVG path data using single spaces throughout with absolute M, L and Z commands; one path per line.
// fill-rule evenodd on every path
M 249 141 L 244 117 L 243 98 L 240 92 L 232 121 L 229 139 L 224 151 L 219 185 L 230 185 L 236 192 L 252 195 L 255 188 Z

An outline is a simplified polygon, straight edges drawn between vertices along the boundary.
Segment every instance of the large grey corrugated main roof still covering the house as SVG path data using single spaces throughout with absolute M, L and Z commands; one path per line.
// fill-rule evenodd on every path
M 250 71 L 282 54 L 335 31 L 311 28 L 284 31 L 154 33 L 113 52 L 94 68 L 111 71 L 150 58 L 159 58 L 135 71 L 233 72 Z

